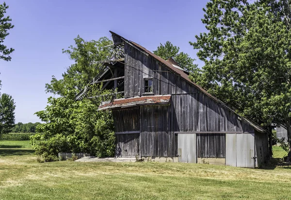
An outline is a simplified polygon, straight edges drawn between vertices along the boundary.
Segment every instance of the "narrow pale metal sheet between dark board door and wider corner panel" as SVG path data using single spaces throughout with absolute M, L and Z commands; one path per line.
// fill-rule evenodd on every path
M 226 133 L 226 166 L 236 167 L 236 135 Z

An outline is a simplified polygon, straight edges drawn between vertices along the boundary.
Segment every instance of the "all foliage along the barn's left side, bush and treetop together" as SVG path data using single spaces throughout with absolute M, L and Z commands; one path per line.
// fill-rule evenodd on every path
M 104 46 L 111 43 L 107 37 L 86 42 L 78 35 L 75 46 L 63 50 L 74 64 L 67 68 L 63 79 L 53 77 L 46 84 L 47 92 L 61 97 L 50 97 L 46 109 L 36 112 L 45 123 L 36 128 L 36 132 L 43 134 L 34 135 L 31 142 L 41 161 L 54 161 L 59 152 L 86 152 L 98 157 L 114 155 L 112 113 L 98 111 L 99 99 L 75 101 L 76 93 L 99 73 L 100 66 L 91 62 L 106 60 L 111 51 Z M 92 96 L 113 92 L 101 88 L 102 84 L 92 86 Z

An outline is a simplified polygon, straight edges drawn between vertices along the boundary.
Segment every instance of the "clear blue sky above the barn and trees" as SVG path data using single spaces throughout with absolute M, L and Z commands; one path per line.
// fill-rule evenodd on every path
M 3 1 L 0 0 L 0 3 Z M 45 84 L 61 78 L 72 64 L 62 49 L 79 34 L 89 41 L 111 37 L 113 31 L 148 50 L 167 40 L 196 58 L 189 45 L 205 32 L 201 22 L 207 0 L 5 0 L 15 28 L 4 44 L 12 47 L 11 62 L 0 60 L 1 93 L 16 102 L 16 122 L 36 122 L 44 110 Z M 202 67 L 202 62 L 196 63 Z

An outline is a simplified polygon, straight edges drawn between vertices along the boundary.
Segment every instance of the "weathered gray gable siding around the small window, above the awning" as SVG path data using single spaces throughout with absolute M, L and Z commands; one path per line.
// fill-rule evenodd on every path
M 144 79 L 153 79 L 155 95 L 196 93 L 198 90 L 146 53 L 125 44 L 124 97 L 144 94 Z

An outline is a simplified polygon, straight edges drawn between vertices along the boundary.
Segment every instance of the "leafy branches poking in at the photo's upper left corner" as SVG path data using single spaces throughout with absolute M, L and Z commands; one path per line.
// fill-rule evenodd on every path
M 5 61 L 11 60 L 9 54 L 14 51 L 14 49 L 9 49 L 3 44 L 6 36 L 9 35 L 8 31 L 14 27 L 14 25 L 11 24 L 12 19 L 9 16 L 4 17 L 8 7 L 9 6 L 6 5 L 5 2 L 0 4 L 0 59 Z

